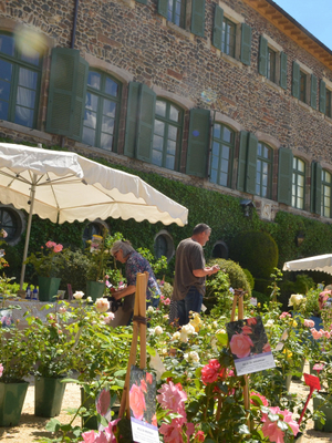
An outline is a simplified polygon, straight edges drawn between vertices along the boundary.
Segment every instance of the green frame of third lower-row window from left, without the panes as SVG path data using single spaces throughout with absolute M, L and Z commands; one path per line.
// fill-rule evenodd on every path
M 154 120 L 154 121 L 158 120 L 158 121 L 165 123 L 165 133 L 163 135 L 162 165 L 157 165 L 156 163 L 153 162 L 154 136 L 158 135 L 158 134 L 155 134 L 155 128 L 154 128 L 154 132 L 153 132 L 151 163 L 153 165 L 155 165 L 155 166 L 158 166 L 158 167 L 164 167 L 164 168 L 169 169 L 169 171 L 178 172 L 180 169 L 180 155 L 181 155 L 181 146 L 183 146 L 185 111 L 178 104 L 172 102 L 170 100 L 162 97 L 162 96 L 157 96 L 156 97 L 156 107 L 157 107 L 157 102 L 158 101 L 166 103 L 166 116 L 163 117 L 163 116 L 158 115 L 156 113 L 156 110 L 155 110 L 155 120 Z M 169 120 L 170 106 L 174 106 L 180 113 L 178 123 L 176 123 L 175 121 Z M 169 125 L 173 125 L 173 126 L 176 126 L 177 128 L 179 128 L 179 131 L 177 133 L 178 141 L 176 142 L 176 152 L 175 152 L 175 156 L 174 156 L 174 168 L 173 169 L 166 166 Z

